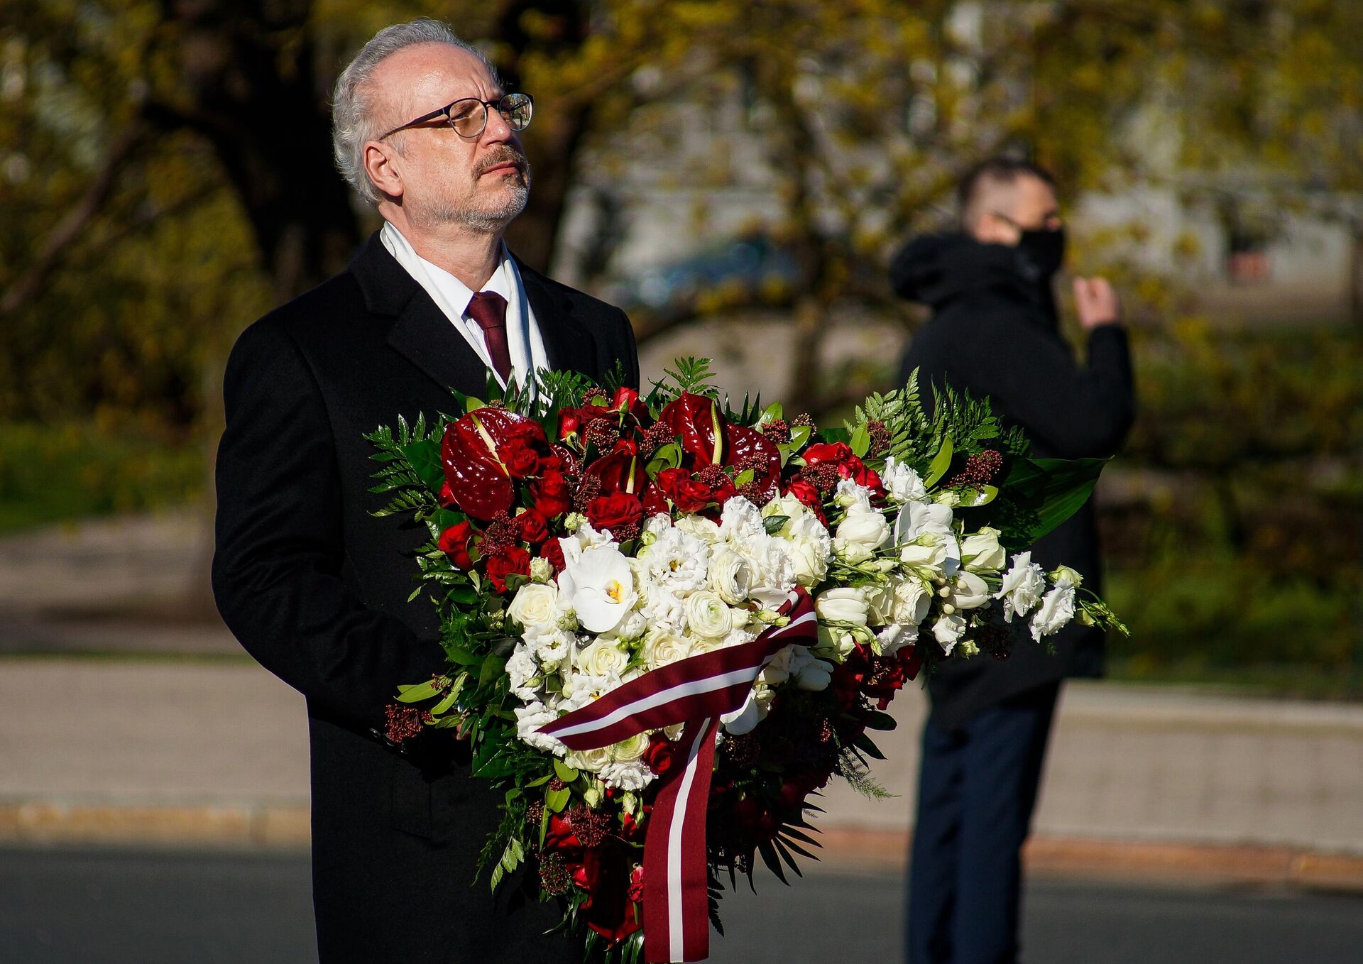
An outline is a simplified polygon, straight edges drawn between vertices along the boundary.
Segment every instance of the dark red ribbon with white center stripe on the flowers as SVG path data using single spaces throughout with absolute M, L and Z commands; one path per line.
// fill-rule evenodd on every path
M 786 623 L 752 642 L 669 663 L 540 728 L 570 750 L 594 750 L 686 724 L 660 777 L 643 841 L 643 956 L 650 963 L 699 961 L 710 953 L 705 815 L 720 717 L 743 706 L 767 660 L 792 644 L 812 645 L 818 630 L 803 588 L 780 614 Z

